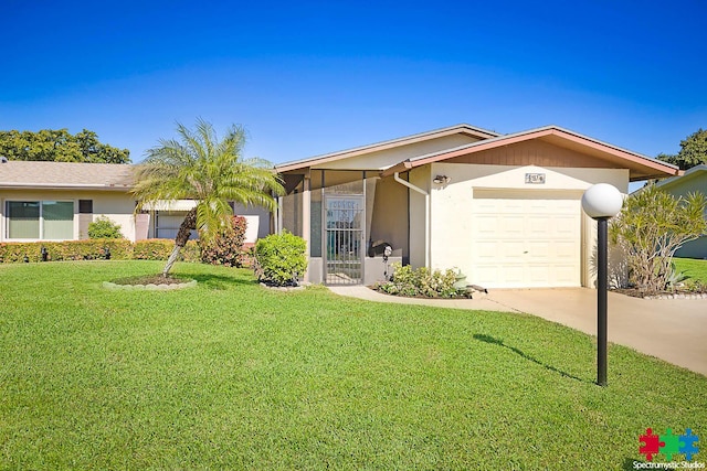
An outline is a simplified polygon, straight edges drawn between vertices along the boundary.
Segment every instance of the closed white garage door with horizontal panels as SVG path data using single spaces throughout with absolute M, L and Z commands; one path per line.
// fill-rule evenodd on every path
M 487 288 L 580 286 L 580 200 L 549 192 L 502 195 L 474 192 L 473 282 Z

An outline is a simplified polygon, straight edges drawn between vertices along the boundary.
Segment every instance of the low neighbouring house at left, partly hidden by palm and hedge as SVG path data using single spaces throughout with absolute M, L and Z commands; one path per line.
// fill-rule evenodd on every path
M 133 165 L 113 163 L 24 162 L 0 160 L 0 242 L 76 240 L 88 224 L 107 216 L 135 242 L 173 239 L 194 203 L 161 203 L 134 214 Z M 234 205 L 249 220 L 246 242 L 270 232 L 270 213 Z

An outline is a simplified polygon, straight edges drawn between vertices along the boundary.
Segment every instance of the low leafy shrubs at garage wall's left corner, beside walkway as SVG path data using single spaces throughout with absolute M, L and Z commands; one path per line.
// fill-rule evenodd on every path
M 389 281 L 376 285 L 381 292 L 394 296 L 424 297 L 424 298 L 461 298 L 466 296 L 465 289 L 454 286 L 457 274 L 447 269 L 430 270 L 426 267 L 413 269 L 410 265 L 400 263 L 392 265 L 393 274 Z

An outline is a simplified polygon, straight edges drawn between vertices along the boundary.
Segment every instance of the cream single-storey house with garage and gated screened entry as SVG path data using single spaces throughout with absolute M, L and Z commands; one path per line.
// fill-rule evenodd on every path
M 457 268 L 486 288 L 593 286 L 583 192 L 605 182 L 625 194 L 631 181 L 679 173 L 555 126 L 500 136 L 468 125 L 276 170 L 286 196 L 275 229 L 307 240 L 309 281 L 370 283 L 402 261 Z

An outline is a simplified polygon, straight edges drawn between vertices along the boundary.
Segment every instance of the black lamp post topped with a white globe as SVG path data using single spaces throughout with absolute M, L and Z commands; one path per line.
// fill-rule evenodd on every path
M 597 221 L 597 384 L 600 386 L 606 386 L 606 228 L 622 205 L 621 193 L 608 183 L 592 185 L 582 195 L 584 213 Z

